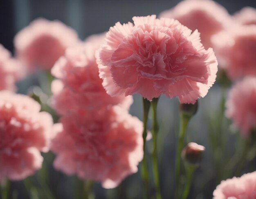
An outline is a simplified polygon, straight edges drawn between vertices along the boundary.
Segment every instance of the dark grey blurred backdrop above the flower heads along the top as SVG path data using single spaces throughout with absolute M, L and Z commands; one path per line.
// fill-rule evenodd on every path
M 180 0 L 0 0 L 0 43 L 13 50 L 13 37 L 38 17 L 61 20 L 74 28 L 81 39 L 107 31 L 115 22 L 133 16 L 159 14 Z M 216 0 L 229 13 L 256 7 L 255 0 Z

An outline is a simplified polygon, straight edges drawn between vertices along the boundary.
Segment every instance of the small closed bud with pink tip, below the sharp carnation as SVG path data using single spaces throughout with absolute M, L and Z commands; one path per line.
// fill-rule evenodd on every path
M 202 159 L 204 150 L 204 146 L 191 142 L 182 150 L 182 157 L 188 163 L 198 164 Z

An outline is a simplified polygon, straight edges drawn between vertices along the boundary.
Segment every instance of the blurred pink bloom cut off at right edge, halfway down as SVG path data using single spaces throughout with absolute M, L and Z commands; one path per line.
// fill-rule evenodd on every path
M 246 77 L 236 83 L 226 101 L 226 116 L 245 136 L 256 127 L 256 77 Z

